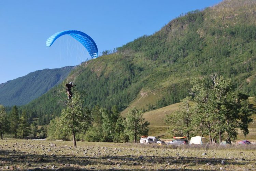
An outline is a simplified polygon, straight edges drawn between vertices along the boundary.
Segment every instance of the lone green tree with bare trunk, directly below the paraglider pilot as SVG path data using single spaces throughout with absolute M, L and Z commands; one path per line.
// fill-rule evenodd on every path
M 72 100 L 66 100 L 66 109 L 61 111 L 60 123 L 64 132 L 71 133 L 76 147 L 75 134 L 86 131 L 91 124 L 91 112 L 83 107 L 84 97 L 74 91 Z

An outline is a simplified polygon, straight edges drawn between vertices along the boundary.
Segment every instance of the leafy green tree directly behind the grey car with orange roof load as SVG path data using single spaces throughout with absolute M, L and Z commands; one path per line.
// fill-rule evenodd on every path
M 189 103 L 191 97 L 186 97 L 181 100 L 182 104 L 179 105 L 179 109 L 175 112 L 166 115 L 164 122 L 169 125 L 168 133 L 172 136 L 186 136 L 189 140 L 193 135 L 192 119 L 194 109 Z

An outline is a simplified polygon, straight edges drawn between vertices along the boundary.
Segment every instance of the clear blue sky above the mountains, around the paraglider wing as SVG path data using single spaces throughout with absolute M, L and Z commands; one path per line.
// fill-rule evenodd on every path
M 89 57 L 69 36 L 47 48 L 45 42 L 55 32 L 85 32 L 100 53 L 151 35 L 182 13 L 221 1 L 0 0 L 0 83 L 45 68 L 77 65 Z

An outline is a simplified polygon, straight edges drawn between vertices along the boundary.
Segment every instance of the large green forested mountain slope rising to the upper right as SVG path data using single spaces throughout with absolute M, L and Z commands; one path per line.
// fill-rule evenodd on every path
M 255 96 L 256 1 L 224 0 L 189 12 L 153 35 L 83 63 L 79 71 L 75 89 L 86 91 L 89 108 L 157 109 L 187 96 L 191 78 L 212 73 L 231 77 L 237 91 Z M 48 123 L 62 108 L 53 95 L 60 89 L 62 84 L 23 108 Z

